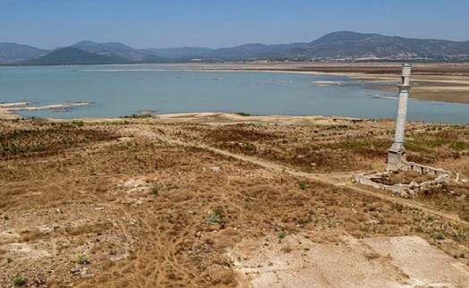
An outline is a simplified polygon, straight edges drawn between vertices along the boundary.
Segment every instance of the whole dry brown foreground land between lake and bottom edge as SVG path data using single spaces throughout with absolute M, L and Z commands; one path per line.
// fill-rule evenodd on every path
M 1 287 L 469 283 L 467 184 L 399 199 L 350 182 L 384 168 L 391 122 L 0 121 Z M 409 157 L 469 174 L 467 126 L 408 131 Z

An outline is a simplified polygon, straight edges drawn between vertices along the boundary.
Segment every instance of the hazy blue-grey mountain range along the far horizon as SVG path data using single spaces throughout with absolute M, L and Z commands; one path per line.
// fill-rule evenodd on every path
M 122 43 L 81 41 L 70 47 L 39 49 L 0 43 L 0 64 L 139 64 L 223 62 L 245 60 L 342 60 L 467 62 L 469 41 L 402 38 L 338 31 L 309 43 L 246 44 L 204 47 L 135 49 Z

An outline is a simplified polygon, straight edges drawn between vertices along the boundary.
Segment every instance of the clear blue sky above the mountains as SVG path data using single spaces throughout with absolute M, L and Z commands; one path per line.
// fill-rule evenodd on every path
M 352 30 L 469 40 L 469 0 L 0 0 L 0 42 L 146 47 L 311 42 Z

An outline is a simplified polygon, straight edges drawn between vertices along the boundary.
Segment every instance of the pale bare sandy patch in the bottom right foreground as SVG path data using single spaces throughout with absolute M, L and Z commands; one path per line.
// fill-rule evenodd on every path
M 418 236 L 308 238 L 243 241 L 229 255 L 252 287 L 465 287 L 469 280 L 464 264 Z

